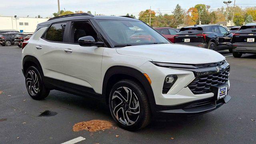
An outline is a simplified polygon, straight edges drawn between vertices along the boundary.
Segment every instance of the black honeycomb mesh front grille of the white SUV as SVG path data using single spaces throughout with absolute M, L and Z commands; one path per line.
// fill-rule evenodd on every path
M 212 86 L 228 83 L 230 69 L 216 73 L 198 76 L 188 85 L 193 94 L 206 94 L 212 92 Z

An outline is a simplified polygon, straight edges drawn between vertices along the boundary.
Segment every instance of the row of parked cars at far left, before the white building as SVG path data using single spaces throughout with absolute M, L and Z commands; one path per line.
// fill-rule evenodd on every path
M 11 46 L 12 44 L 22 47 L 22 42 L 26 42 L 33 33 L 18 32 L 16 30 L 0 30 L 0 44 Z

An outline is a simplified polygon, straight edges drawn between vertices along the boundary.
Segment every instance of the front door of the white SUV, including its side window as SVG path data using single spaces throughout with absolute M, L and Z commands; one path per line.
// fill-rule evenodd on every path
M 72 84 L 92 88 L 101 92 L 101 63 L 104 47 L 80 46 L 78 39 L 92 36 L 99 41 L 97 32 L 92 24 L 87 21 L 71 23 L 70 40 L 63 51 L 64 80 Z

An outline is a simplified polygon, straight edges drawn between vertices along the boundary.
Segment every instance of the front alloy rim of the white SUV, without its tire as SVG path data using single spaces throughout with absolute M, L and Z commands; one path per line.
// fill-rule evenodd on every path
M 140 103 L 130 88 L 117 88 L 110 102 L 112 113 L 118 122 L 126 126 L 136 123 L 140 116 Z

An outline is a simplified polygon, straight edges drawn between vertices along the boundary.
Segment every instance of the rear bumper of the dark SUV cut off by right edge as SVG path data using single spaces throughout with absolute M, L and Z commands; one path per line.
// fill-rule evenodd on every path
M 241 53 L 256 53 L 256 43 L 234 43 L 232 44 L 233 52 L 241 52 Z

